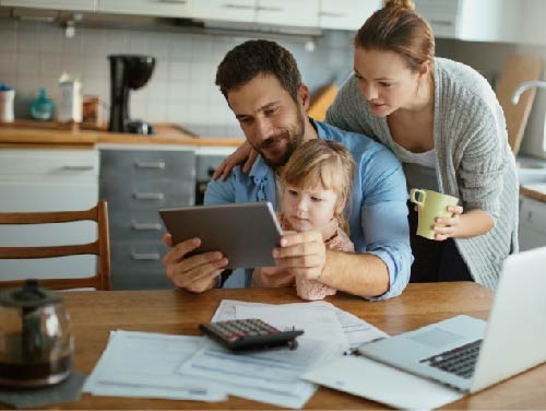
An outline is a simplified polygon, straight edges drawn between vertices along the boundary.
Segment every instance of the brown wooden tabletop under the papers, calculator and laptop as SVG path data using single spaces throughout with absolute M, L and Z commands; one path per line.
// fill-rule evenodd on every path
M 64 300 L 75 337 L 75 369 L 91 373 L 111 330 L 198 334 L 197 325 L 209 321 L 224 298 L 262 303 L 300 302 L 293 289 L 213 290 L 202 295 L 181 291 L 69 292 Z M 410 284 L 396 298 L 367 302 L 340 293 L 329 302 L 388 333 L 395 334 L 458 314 L 486 319 L 492 294 L 470 283 Z M 517 378 L 463 398 L 446 409 L 546 409 L 546 365 Z M 395 387 L 393 387 L 395 389 Z M 319 388 L 306 409 L 384 409 L 364 398 Z M 49 409 L 276 409 L 274 406 L 230 397 L 225 402 L 174 401 L 93 397 Z

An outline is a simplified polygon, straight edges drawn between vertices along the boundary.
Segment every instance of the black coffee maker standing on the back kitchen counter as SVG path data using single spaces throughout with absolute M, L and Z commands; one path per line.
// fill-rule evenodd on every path
M 129 91 L 147 83 L 155 58 L 135 55 L 110 55 L 110 126 L 109 131 L 153 134 L 152 125 L 129 118 Z

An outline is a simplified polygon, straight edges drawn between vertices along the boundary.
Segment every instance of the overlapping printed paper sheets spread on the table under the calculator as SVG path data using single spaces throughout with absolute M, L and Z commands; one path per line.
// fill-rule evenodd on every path
M 260 318 L 304 329 L 298 349 L 233 353 L 202 337 L 115 331 L 84 390 L 100 396 L 222 401 L 227 395 L 301 408 L 317 386 L 306 371 L 387 334 L 330 303 L 223 301 L 213 321 Z

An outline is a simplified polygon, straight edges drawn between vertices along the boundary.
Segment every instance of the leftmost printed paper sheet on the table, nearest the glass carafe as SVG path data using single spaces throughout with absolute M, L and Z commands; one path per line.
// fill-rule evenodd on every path
M 202 337 L 116 331 L 84 385 L 100 396 L 222 401 L 225 391 L 201 387 L 176 369 L 201 347 Z

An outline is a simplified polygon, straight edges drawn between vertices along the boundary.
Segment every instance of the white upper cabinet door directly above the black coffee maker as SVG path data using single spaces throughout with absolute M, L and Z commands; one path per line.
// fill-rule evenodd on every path
M 191 3 L 192 0 L 98 0 L 97 11 L 118 14 L 191 17 Z

